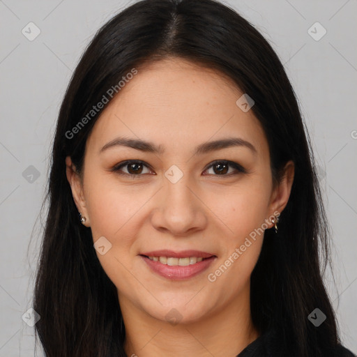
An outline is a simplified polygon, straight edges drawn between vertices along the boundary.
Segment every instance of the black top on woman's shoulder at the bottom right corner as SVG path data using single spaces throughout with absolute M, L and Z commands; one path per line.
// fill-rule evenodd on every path
M 275 357 L 277 356 L 276 347 L 273 344 L 273 334 L 264 333 L 260 335 L 257 340 L 248 344 L 243 351 L 236 357 Z M 333 356 L 326 357 L 356 357 L 349 349 L 341 346 L 336 347 Z

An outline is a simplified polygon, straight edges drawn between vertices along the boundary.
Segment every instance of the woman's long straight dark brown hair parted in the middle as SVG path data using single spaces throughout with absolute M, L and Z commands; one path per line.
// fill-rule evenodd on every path
M 251 275 L 252 321 L 260 333 L 279 336 L 275 357 L 329 356 L 340 340 L 322 280 L 330 257 L 328 225 L 296 95 L 261 33 L 214 0 L 134 3 L 102 26 L 75 69 L 56 126 L 33 298 L 46 356 L 126 356 L 116 287 L 98 261 L 90 229 L 79 222 L 66 179 L 66 156 L 80 172 L 86 139 L 102 110 L 73 137 L 68 132 L 132 68 L 170 57 L 218 70 L 255 100 L 252 111 L 268 139 L 275 181 L 284 164 L 294 162 L 278 234 L 266 230 Z M 318 328 L 307 319 L 315 308 L 327 317 Z

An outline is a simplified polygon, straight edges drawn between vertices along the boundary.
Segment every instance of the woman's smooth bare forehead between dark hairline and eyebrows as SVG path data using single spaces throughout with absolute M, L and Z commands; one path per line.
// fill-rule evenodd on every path
M 243 93 L 225 75 L 182 59 L 137 71 L 97 120 L 88 139 L 91 146 L 125 135 L 150 139 L 174 152 L 238 136 L 258 150 L 267 149 L 259 121 L 252 110 L 243 112 L 236 105 Z

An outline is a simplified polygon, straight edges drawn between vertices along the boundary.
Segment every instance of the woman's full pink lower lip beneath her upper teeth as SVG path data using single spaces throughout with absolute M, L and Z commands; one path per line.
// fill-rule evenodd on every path
M 142 255 L 140 257 L 144 259 L 145 263 L 148 264 L 149 268 L 151 268 L 154 273 L 171 280 L 184 280 L 192 278 L 205 271 L 216 258 L 213 256 L 188 266 L 169 266 L 167 264 L 160 263 L 160 261 L 150 260 Z

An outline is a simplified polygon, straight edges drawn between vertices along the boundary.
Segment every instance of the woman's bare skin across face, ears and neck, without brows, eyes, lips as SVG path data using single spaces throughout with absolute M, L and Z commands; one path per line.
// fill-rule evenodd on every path
M 231 79 L 182 59 L 138 70 L 93 127 L 82 176 L 66 158 L 73 198 L 93 242 L 105 236 L 112 244 L 97 255 L 118 291 L 126 353 L 236 356 L 259 336 L 250 317 L 250 275 L 264 234 L 250 239 L 252 245 L 214 282 L 208 274 L 273 213 L 282 212 L 294 165 L 288 162 L 282 181 L 273 185 L 264 131 L 252 110 L 236 105 L 243 93 Z M 100 152 L 119 136 L 160 144 L 165 153 L 125 146 Z M 226 137 L 240 137 L 256 152 L 233 146 L 192 155 L 197 145 Z M 134 178 L 111 170 L 126 160 L 148 166 Z M 208 167 L 215 160 L 237 162 L 246 173 L 229 166 L 220 174 L 216 166 Z M 177 183 L 165 176 L 172 165 L 183 173 Z M 121 168 L 124 174 L 128 170 Z M 207 271 L 173 281 L 153 273 L 139 256 L 160 249 L 202 250 L 217 258 Z M 173 308 L 178 324 L 165 317 Z

